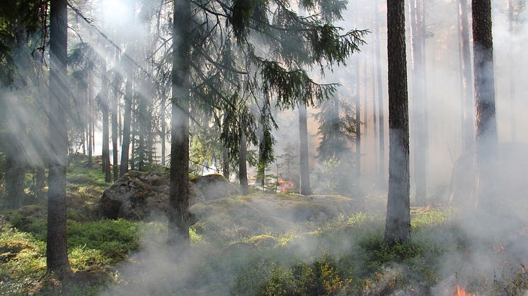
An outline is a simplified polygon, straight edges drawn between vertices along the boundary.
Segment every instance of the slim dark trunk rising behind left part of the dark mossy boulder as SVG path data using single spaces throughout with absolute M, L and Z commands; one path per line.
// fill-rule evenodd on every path
M 125 110 L 123 111 L 123 139 L 121 141 L 121 164 L 120 176 L 128 172 L 128 162 L 130 153 L 130 123 L 132 122 L 132 85 L 134 83 L 134 73 L 132 65 L 127 61 L 127 82 L 125 83 Z

